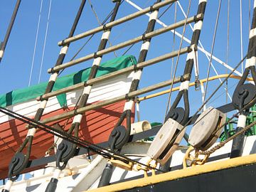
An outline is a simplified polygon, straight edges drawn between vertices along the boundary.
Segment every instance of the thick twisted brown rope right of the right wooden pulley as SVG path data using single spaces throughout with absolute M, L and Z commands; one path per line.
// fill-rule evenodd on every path
M 235 134 L 233 134 L 233 136 L 231 136 L 230 138 L 226 139 L 225 141 L 220 142 L 216 146 L 213 146 L 213 148 L 209 149 L 208 151 L 199 151 L 198 153 L 199 154 L 203 154 L 203 155 L 213 154 L 216 150 L 218 150 L 221 147 L 223 147 L 225 144 L 227 144 L 228 142 L 233 140 L 235 137 L 238 137 L 238 135 L 245 133 L 248 129 L 250 129 L 251 127 L 255 126 L 255 124 L 256 124 L 256 121 L 252 122 L 249 125 L 247 125 L 245 128 L 241 129 L 239 132 L 236 132 Z

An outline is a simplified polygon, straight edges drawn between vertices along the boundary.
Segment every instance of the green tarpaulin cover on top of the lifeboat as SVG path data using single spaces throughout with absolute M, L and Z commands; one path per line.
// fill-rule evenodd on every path
M 119 58 L 108 60 L 107 62 L 100 64 L 96 77 L 106 75 L 107 73 L 112 73 L 122 68 L 127 68 L 131 65 L 136 65 L 136 63 L 137 60 L 132 55 L 124 55 Z M 84 70 L 80 70 L 78 73 L 73 73 L 58 78 L 53 87 L 53 91 L 75 85 L 79 82 L 87 81 L 90 75 L 90 70 L 91 68 L 86 68 Z M 44 94 L 47 84 L 48 82 L 42 82 L 38 85 L 33 85 L 31 87 L 26 87 L 19 90 L 13 90 L 6 94 L 0 95 L 0 106 L 7 107 L 9 105 L 14 105 L 27 100 L 36 99 L 36 97 Z M 57 99 L 61 107 L 67 105 L 65 93 L 58 95 Z

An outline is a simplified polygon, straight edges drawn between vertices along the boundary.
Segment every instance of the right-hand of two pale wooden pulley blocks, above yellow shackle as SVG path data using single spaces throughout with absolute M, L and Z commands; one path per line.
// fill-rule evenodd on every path
M 225 123 L 225 119 L 226 114 L 209 107 L 196 119 L 188 143 L 201 151 L 209 149 L 220 137 L 223 131 L 223 127 L 220 128 L 220 126 Z

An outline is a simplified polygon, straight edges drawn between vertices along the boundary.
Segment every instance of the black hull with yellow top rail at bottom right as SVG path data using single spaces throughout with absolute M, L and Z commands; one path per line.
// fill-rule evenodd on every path
M 256 191 L 256 155 L 141 178 L 112 185 L 111 191 Z M 132 184 L 136 183 L 136 184 Z M 109 187 L 108 187 L 109 188 Z M 95 191 L 108 191 L 98 188 Z

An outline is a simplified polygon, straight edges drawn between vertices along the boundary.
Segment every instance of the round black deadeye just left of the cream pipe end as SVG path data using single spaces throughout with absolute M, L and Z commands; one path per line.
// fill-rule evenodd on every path
M 127 129 L 122 125 L 112 130 L 110 137 L 108 139 L 110 149 L 120 149 L 122 147 L 122 142 L 125 138 L 126 132 Z

